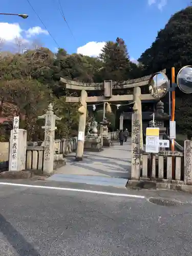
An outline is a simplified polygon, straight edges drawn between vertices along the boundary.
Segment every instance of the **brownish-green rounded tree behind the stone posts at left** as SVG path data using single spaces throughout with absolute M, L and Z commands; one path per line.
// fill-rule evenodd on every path
M 52 100 L 51 91 L 37 80 L 13 79 L 0 82 L 1 113 L 19 116 L 28 139 L 37 139 L 37 116 L 42 115 Z

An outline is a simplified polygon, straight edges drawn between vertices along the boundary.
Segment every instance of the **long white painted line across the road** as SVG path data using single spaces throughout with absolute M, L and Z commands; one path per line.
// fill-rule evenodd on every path
M 92 193 L 92 194 L 117 196 L 117 197 L 133 197 L 133 198 L 142 198 L 142 199 L 145 198 L 143 196 L 137 196 L 137 195 L 109 193 L 109 192 L 104 192 L 104 191 L 94 191 L 94 190 L 68 188 L 68 187 L 49 187 L 49 186 L 27 185 L 27 184 L 8 183 L 8 182 L 0 182 L 0 185 L 10 185 L 10 186 L 18 186 L 18 187 L 31 187 L 31 188 L 47 188 L 47 189 L 85 192 L 85 193 Z

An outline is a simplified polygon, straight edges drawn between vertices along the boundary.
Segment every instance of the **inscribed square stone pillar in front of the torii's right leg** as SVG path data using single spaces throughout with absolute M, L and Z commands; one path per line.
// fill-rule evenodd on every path
M 133 180 L 140 178 L 140 120 L 139 114 L 132 114 L 132 174 Z

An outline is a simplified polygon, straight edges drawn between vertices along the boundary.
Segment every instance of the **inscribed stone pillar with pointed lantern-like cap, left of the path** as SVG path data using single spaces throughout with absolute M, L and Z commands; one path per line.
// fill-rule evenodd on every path
M 44 174 L 53 173 L 53 163 L 54 163 L 54 154 L 55 154 L 55 121 L 61 120 L 61 118 L 54 115 L 53 105 L 50 103 L 46 114 L 38 116 L 38 119 L 45 119 L 45 126 L 42 126 L 45 129 L 45 139 L 42 143 L 44 146 Z

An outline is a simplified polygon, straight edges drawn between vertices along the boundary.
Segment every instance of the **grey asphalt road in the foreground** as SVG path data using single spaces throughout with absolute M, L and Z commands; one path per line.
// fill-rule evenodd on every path
M 72 183 L 31 184 L 48 188 L 0 183 L 1 256 L 191 255 L 191 195 Z M 176 198 L 183 205 L 159 206 L 148 201 L 158 195 Z

